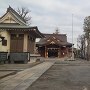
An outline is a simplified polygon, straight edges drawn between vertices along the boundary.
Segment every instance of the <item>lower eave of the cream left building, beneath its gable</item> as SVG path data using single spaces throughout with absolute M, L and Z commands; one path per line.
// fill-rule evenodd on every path
M 0 25 L 0 30 L 6 30 L 6 31 L 24 31 L 24 32 L 30 32 L 32 35 L 36 38 L 42 38 L 44 37 L 43 34 L 38 30 L 37 26 L 21 26 L 21 25 L 12 25 L 12 26 L 5 26 Z

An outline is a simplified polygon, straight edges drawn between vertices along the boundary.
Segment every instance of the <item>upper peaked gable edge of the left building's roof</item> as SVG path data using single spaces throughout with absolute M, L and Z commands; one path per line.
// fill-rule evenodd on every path
M 19 23 L 26 25 L 26 21 L 24 18 L 22 18 L 13 8 L 10 6 L 7 8 L 6 13 L 0 18 L 0 21 L 8 14 L 10 13 Z M 2 22 L 1 22 L 2 23 Z

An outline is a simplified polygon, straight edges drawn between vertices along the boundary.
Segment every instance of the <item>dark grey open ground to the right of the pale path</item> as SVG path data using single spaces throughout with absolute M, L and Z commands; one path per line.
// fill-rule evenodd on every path
M 90 90 L 90 61 L 56 61 L 27 90 Z

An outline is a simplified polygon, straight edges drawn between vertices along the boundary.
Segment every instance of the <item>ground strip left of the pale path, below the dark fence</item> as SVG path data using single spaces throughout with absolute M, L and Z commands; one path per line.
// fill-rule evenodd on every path
M 2 64 L 0 65 L 0 79 L 14 75 L 19 71 L 23 71 L 27 68 L 31 68 L 41 62 L 36 62 L 35 60 L 31 60 L 28 64 Z

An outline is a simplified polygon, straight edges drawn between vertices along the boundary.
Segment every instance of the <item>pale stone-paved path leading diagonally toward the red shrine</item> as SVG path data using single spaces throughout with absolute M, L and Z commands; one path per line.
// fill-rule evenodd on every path
M 0 80 L 0 90 L 25 90 L 36 81 L 55 61 L 46 61 L 32 68 Z

